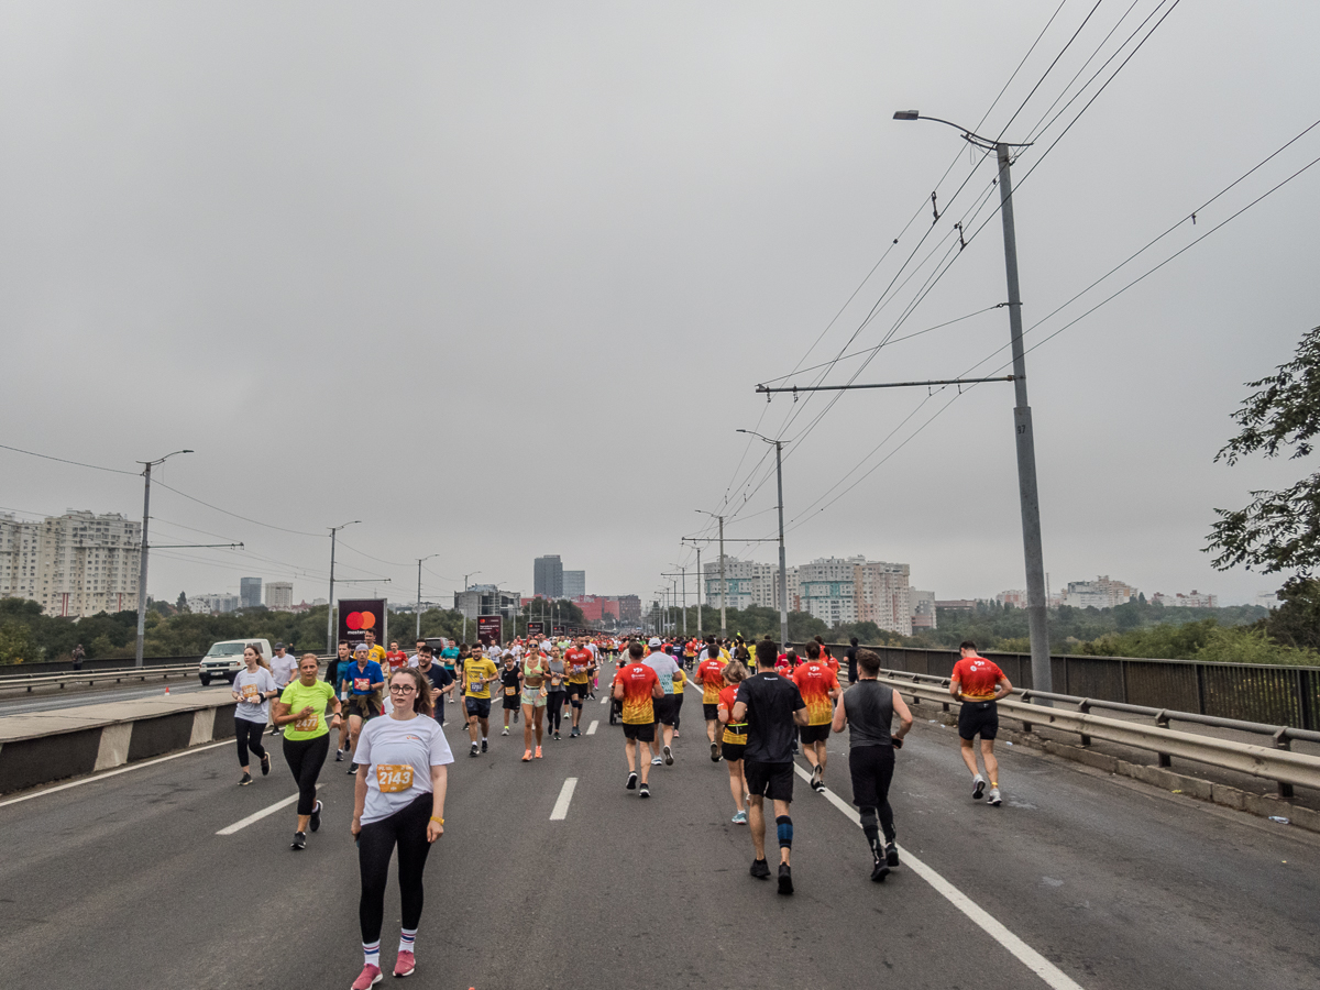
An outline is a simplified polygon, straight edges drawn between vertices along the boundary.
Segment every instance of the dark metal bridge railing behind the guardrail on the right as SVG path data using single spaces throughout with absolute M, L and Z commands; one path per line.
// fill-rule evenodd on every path
M 847 644 L 832 643 L 837 659 Z M 957 649 L 866 647 L 879 653 L 880 667 L 948 677 Z M 1034 688 L 1030 653 L 986 651 L 1016 688 Z M 1055 690 L 1092 701 L 1171 709 L 1245 722 L 1320 729 L 1320 668 L 1269 664 L 1148 660 L 1126 656 L 1051 657 Z

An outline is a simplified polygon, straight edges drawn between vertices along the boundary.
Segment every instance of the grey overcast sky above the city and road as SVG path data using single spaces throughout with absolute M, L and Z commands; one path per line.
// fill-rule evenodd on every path
M 1024 141 L 1119 51 L 1014 166 L 1028 326 L 1320 117 L 1320 7 L 1200 0 L 1053 147 L 1170 4 L 1100 3 L 1028 99 L 1093 7 L 1067 0 L 995 100 L 1057 7 L 4 4 L 0 444 L 127 470 L 195 449 L 157 477 L 267 525 L 153 488 L 153 541 L 247 545 L 154 553 L 170 599 L 248 574 L 323 597 L 326 527 L 354 519 L 337 573 L 393 599 L 428 554 L 426 598 L 469 572 L 531 593 L 543 553 L 649 597 L 711 532 L 698 508 L 772 561 L 737 539 L 772 536 L 776 502 L 738 428 L 789 441 L 791 564 L 1023 587 L 1011 385 L 920 432 L 956 389 L 851 392 L 816 422 L 826 397 L 754 388 L 1006 298 L 993 160 L 895 110 Z M 1317 156 L 1320 128 L 1028 345 Z M 1309 469 L 1212 459 L 1242 383 L 1320 322 L 1317 201 L 1320 166 L 1028 354 L 1053 589 L 1280 583 L 1201 548 L 1214 507 Z M 857 380 L 1002 375 L 1007 341 L 991 309 Z M 0 506 L 140 516 L 141 482 L 0 450 Z

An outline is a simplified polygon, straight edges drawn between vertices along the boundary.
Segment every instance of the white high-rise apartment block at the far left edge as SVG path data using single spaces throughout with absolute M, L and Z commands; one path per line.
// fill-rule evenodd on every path
M 135 611 L 141 523 L 69 510 L 40 523 L 0 515 L 0 598 L 38 602 L 48 615 Z

